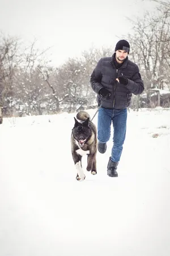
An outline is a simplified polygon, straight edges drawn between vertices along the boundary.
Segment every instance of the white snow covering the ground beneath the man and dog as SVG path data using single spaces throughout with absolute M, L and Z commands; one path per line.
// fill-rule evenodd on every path
M 119 176 L 107 176 L 110 139 L 107 152 L 97 152 L 97 175 L 83 156 L 84 181 L 71 156 L 75 113 L 4 118 L 0 255 L 170 255 L 169 116 L 170 109 L 131 110 Z

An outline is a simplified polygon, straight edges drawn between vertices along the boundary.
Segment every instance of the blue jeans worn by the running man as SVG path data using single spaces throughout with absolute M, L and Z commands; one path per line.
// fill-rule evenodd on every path
M 97 139 L 101 143 L 108 142 L 111 137 L 113 123 L 113 147 L 111 160 L 119 162 L 126 137 L 127 109 L 100 108 L 97 121 Z

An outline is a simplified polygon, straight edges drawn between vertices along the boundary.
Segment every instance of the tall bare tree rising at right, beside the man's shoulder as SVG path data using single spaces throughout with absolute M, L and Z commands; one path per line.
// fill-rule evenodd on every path
M 156 1 L 159 2 L 159 1 Z M 169 84 L 169 6 L 163 3 L 156 15 L 146 13 L 133 21 L 134 35 L 129 35 L 131 56 L 138 63 L 146 89 L 164 89 Z

